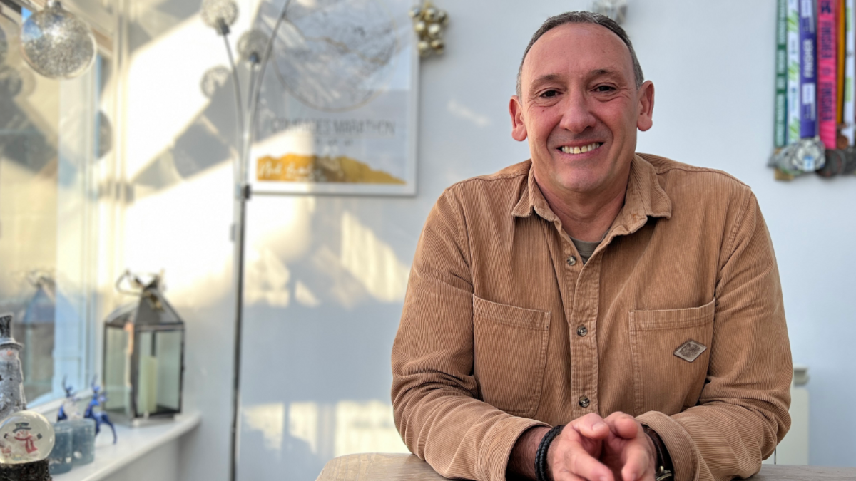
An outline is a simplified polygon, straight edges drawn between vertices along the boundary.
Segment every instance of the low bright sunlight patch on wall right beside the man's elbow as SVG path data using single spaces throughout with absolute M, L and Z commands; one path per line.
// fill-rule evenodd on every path
M 336 403 L 334 455 L 409 453 L 395 430 L 392 406 L 381 401 Z

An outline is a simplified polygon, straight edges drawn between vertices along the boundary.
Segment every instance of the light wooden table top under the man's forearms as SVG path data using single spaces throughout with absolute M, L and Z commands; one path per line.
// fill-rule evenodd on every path
M 350 454 L 330 460 L 316 481 L 445 481 L 413 454 Z M 856 468 L 764 465 L 754 481 L 853 481 Z

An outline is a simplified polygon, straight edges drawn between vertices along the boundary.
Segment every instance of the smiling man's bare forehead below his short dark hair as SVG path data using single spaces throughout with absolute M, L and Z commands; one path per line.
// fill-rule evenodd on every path
M 532 82 L 544 74 L 556 74 L 551 70 L 568 62 L 580 68 L 579 74 L 633 74 L 630 50 L 618 35 L 591 23 L 567 23 L 544 33 L 532 45 L 523 75 Z

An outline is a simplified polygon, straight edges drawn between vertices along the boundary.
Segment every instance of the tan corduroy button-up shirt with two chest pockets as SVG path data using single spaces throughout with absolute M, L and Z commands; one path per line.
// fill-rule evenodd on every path
M 448 478 L 500 481 L 526 429 L 615 411 L 657 431 L 677 481 L 748 477 L 788 431 L 793 372 L 758 202 L 639 154 L 584 265 L 530 162 L 461 181 L 419 239 L 392 371 L 401 437 Z

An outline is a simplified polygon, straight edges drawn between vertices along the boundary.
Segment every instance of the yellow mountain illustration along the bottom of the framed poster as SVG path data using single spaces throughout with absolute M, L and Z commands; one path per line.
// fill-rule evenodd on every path
M 383 170 L 375 170 L 351 157 L 319 157 L 286 154 L 259 157 L 256 178 L 259 181 L 348 182 L 360 184 L 404 184 Z

